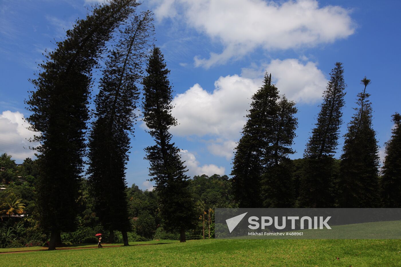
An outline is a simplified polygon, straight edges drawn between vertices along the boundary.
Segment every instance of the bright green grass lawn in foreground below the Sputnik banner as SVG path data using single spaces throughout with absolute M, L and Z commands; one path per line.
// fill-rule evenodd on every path
M 336 259 L 336 258 L 339 259 Z M 401 266 L 401 240 L 196 240 L 0 255 L 0 266 Z

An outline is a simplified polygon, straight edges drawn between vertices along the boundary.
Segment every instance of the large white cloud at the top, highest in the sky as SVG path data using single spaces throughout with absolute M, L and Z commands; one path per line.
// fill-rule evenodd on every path
M 257 48 L 270 51 L 314 47 L 354 33 L 349 10 L 340 6 L 320 7 L 316 0 L 280 3 L 153 0 L 153 3 L 158 19 L 184 18 L 189 26 L 223 45 L 223 52 L 212 52 L 208 59 L 194 57 L 195 66 L 205 68 L 241 58 Z

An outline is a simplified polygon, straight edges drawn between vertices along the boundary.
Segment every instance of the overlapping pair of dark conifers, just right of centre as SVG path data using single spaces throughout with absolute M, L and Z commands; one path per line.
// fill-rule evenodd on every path
M 288 190 L 291 180 L 290 175 L 281 177 L 285 170 L 281 164 L 294 153 L 288 147 L 297 125 L 294 106 L 293 101 L 279 96 L 266 73 L 263 86 L 252 96 L 233 161 L 233 193 L 240 207 L 288 205 L 288 192 L 274 190 L 273 184 L 286 184 Z

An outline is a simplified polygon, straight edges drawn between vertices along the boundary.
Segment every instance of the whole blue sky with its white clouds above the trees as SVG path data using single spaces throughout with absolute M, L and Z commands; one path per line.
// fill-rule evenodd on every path
M 23 148 L 31 133 L 21 119 L 29 114 L 24 105 L 32 89 L 28 79 L 43 51 L 53 49 L 64 29 L 85 16 L 90 2 L 0 1 L 0 153 L 17 162 L 32 156 Z M 171 131 L 190 176 L 231 172 L 249 98 L 266 70 L 280 92 L 297 101 L 292 158 L 302 157 L 336 61 L 344 63 L 348 84 L 342 134 L 366 75 L 372 80 L 373 125 L 384 155 L 391 115 L 401 110 L 399 1 L 150 0 L 138 8 L 143 9 L 155 14 L 155 43 L 171 70 L 173 115 L 180 123 Z M 144 128 L 138 122 L 126 176 L 129 186 L 142 189 L 152 186 L 143 149 L 153 141 Z

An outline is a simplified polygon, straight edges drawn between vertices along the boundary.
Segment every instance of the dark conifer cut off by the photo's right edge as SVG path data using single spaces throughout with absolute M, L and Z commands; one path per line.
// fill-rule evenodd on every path
M 386 156 L 381 179 L 383 204 L 387 208 L 401 208 L 401 115 L 393 117 L 393 131 L 385 143 Z

